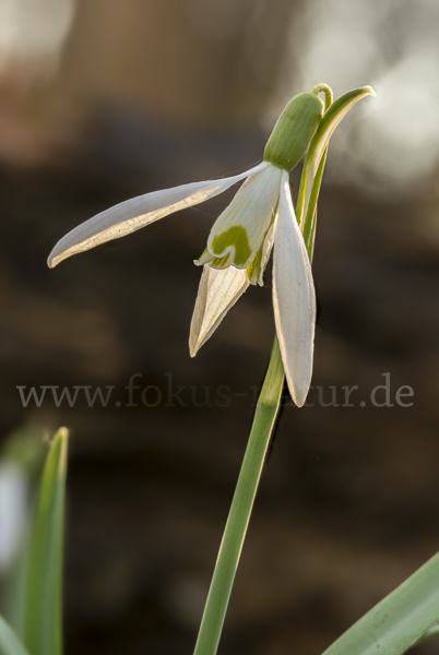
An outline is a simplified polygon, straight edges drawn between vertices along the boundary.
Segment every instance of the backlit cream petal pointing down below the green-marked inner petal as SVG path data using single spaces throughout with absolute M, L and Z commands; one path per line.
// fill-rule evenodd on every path
M 249 287 L 246 271 L 230 266 L 218 271 L 205 265 L 201 275 L 189 335 L 190 356 L 194 357 L 212 336 L 228 310 Z

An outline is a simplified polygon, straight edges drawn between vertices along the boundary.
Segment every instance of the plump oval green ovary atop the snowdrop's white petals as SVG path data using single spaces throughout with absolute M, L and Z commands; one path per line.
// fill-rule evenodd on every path
M 292 171 L 305 155 L 322 116 L 323 103 L 316 93 L 294 96 L 266 142 L 264 160 Z

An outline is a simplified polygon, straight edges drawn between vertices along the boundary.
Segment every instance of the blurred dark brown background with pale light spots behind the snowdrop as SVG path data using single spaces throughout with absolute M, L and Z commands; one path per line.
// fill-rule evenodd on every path
M 274 327 L 269 269 L 188 354 L 192 260 L 234 190 L 54 271 L 46 258 L 111 204 L 256 164 L 320 82 L 378 95 L 331 141 L 320 392 L 283 409 L 221 652 L 319 655 L 438 550 L 438 23 L 436 0 L 0 0 L 0 433 L 72 430 L 67 655 L 192 652 Z M 384 373 L 393 406 L 376 407 Z M 115 395 L 24 407 L 32 385 Z M 347 385 L 353 406 L 323 406 Z

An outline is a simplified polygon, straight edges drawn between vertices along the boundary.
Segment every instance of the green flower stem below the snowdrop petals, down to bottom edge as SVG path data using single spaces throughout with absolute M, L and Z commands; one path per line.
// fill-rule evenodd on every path
M 276 337 L 220 547 L 194 655 L 214 655 L 218 647 L 266 449 L 281 404 L 283 385 L 284 367 Z

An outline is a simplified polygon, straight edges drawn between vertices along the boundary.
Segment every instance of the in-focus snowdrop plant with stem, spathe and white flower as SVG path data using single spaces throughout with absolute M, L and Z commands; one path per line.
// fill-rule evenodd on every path
M 324 103 L 319 96 L 321 93 Z M 263 160 L 257 166 L 234 177 L 154 191 L 122 202 L 66 235 L 48 259 L 48 265 L 56 266 L 73 254 L 127 236 L 245 180 L 214 223 L 206 248 L 195 261 L 203 266 L 203 272 L 190 326 L 189 347 L 194 356 L 249 285 L 263 285 L 264 270 L 274 251 L 276 338 L 207 595 L 195 655 L 214 655 L 217 650 L 280 408 L 284 377 L 298 406 L 304 405 L 309 390 L 316 320 L 310 262 L 328 144 L 346 112 L 368 95 L 375 93 L 370 86 L 364 86 L 333 102 L 332 91 L 325 84 L 296 95 L 274 126 Z M 304 157 L 295 213 L 289 172 Z

